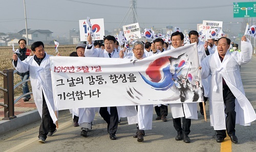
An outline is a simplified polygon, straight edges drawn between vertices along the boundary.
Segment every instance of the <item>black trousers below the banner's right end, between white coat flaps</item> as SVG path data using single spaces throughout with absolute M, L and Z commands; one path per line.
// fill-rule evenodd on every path
M 182 104 L 182 109 L 183 109 L 183 104 Z M 182 134 L 188 135 L 190 133 L 191 119 L 186 119 L 185 117 L 182 117 L 182 126 L 181 126 L 181 118 L 173 118 L 173 123 L 174 123 L 174 128 L 177 131 L 178 135 L 182 135 Z

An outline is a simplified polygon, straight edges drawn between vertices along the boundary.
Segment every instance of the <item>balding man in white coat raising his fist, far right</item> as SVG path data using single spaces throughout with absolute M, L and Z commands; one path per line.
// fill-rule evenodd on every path
M 252 56 L 252 45 L 245 36 L 241 41 L 241 52 L 230 54 L 230 39 L 221 37 L 217 50 L 202 61 L 202 78 L 211 75 L 209 99 L 210 124 L 217 132 L 217 142 L 223 142 L 226 132 L 233 143 L 238 143 L 235 125 L 250 125 L 256 114 L 245 96 L 240 65 L 248 63 Z

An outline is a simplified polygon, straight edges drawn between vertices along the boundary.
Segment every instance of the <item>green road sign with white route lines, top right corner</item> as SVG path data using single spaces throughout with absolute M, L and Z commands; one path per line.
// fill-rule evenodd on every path
M 256 17 L 256 2 L 233 3 L 234 17 Z

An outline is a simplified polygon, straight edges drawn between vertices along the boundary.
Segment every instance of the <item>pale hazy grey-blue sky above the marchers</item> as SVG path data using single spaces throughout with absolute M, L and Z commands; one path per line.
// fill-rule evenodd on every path
M 0 2 L 0 32 L 14 33 L 25 29 L 24 0 Z M 190 30 L 197 29 L 197 23 L 202 23 L 203 20 L 216 20 L 223 21 L 223 30 L 232 27 L 241 30 L 240 22 L 243 18 L 233 18 L 233 2 L 138 0 L 137 18 L 142 28 L 173 26 Z M 69 30 L 79 29 L 78 20 L 89 16 L 91 19 L 104 18 L 105 30 L 112 32 L 120 24 L 119 28 L 122 28 L 123 25 L 131 23 L 130 18 L 126 22 L 127 16 L 124 18 L 129 7 L 129 0 L 26 0 L 27 23 L 29 29 L 50 30 L 54 36 L 62 37 L 68 36 Z

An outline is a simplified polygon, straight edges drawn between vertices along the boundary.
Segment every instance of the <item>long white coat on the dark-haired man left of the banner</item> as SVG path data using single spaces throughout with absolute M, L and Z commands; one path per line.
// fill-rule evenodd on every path
M 34 60 L 34 56 L 27 57 L 24 61 L 20 61 L 19 59 L 17 61 L 17 66 L 15 67 L 14 64 L 13 66 L 18 72 L 29 70 L 32 92 L 40 116 L 42 117 L 42 93 L 44 93 L 52 120 L 56 122 L 57 117 L 54 113 L 50 56 L 46 53 L 46 57 L 42 60 L 40 66 Z

